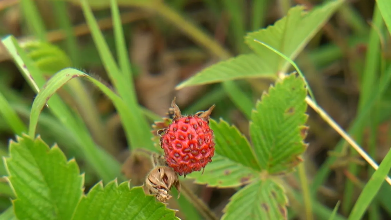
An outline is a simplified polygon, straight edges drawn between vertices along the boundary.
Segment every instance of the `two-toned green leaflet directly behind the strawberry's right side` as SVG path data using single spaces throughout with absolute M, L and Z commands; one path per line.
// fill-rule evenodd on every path
M 210 119 L 215 136 L 215 155 L 206 165 L 204 173 L 192 172 L 186 178 L 194 178 L 199 184 L 218 187 L 235 187 L 258 177 L 260 166 L 253 149 L 238 129 L 220 120 Z

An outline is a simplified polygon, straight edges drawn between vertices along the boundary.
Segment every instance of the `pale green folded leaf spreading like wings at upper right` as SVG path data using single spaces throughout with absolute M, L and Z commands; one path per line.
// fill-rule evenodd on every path
M 205 68 L 179 84 L 177 89 L 235 79 L 274 78 L 278 72 L 286 72 L 289 63 L 254 39 L 266 43 L 293 60 L 343 2 L 328 1 L 309 12 L 304 11 L 303 6 L 292 7 L 288 15 L 276 21 L 273 26 L 246 36 L 246 43 L 255 54 L 239 55 Z

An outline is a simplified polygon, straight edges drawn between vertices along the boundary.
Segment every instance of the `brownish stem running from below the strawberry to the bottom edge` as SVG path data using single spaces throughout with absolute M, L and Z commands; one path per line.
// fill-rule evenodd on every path
M 181 193 L 192 202 L 193 206 L 199 211 L 199 213 L 204 216 L 206 220 L 219 220 L 215 213 L 209 209 L 208 206 L 203 202 L 203 200 L 199 199 L 197 195 L 194 194 L 192 190 L 190 190 L 183 181 L 181 181 Z

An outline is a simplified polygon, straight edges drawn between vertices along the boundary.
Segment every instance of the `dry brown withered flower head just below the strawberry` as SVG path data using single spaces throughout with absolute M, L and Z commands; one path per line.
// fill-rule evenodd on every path
M 174 186 L 180 192 L 180 183 L 178 175 L 168 166 L 155 166 L 151 172 L 148 173 L 145 179 L 144 187 L 160 202 L 166 203 L 171 199 L 169 191 Z M 178 195 L 179 197 L 179 195 Z

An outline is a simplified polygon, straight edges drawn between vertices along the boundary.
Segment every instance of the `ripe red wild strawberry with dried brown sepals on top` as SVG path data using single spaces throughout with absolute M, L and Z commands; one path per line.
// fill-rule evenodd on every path
M 179 175 L 200 171 L 212 161 L 215 151 L 213 130 L 209 116 L 214 105 L 205 112 L 182 116 L 179 107 L 172 101 L 174 116 L 168 128 L 160 130 L 160 145 L 164 150 L 167 165 Z

